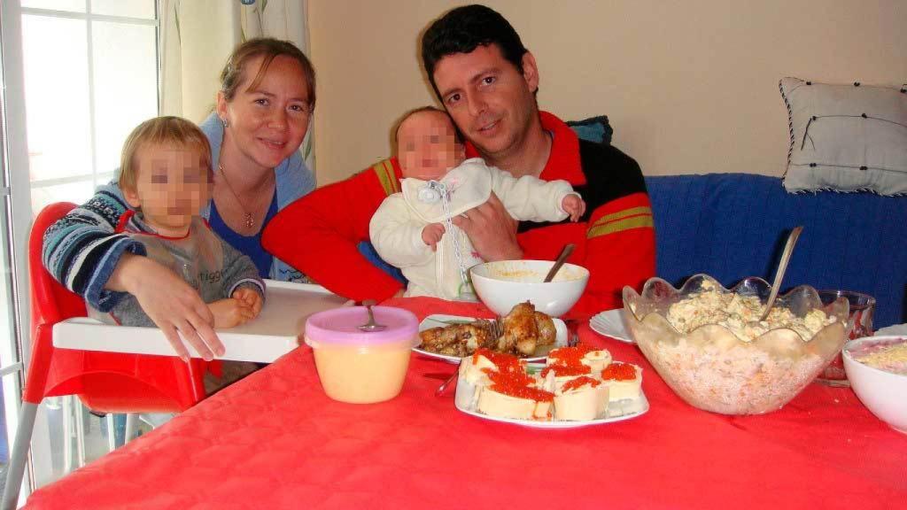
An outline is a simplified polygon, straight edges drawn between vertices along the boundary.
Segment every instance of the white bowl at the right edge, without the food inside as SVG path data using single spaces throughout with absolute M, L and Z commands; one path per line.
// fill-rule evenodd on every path
M 854 352 L 873 345 L 907 342 L 905 337 L 857 338 L 844 344 L 844 371 L 863 405 L 894 430 L 907 434 L 907 376 L 873 368 L 853 358 Z

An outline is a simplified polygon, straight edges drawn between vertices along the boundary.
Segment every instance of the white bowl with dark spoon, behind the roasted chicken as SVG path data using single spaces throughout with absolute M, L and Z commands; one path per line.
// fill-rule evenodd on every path
M 564 264 L 553 281 L 543 283 L 551 260 L 500 260 L 473 266 L 473 288 L 489 309 L 504 316 L 519 303 L 531 301 L 535 309 L 561 317 L 580 299 L 589 270 Z

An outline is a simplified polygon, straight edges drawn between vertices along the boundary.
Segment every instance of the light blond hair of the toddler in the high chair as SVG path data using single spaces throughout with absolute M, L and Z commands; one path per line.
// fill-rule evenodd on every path
M 145 145 L 178 146 L 197 152 L 211 180 L 211 145 L 205 133 L 194 123 L 180 117 L 155 117 L 133 129 L 122 145 L 117 180 L 121 190 L 135 190 L 139 176 L 139 163 L 135 156 Z

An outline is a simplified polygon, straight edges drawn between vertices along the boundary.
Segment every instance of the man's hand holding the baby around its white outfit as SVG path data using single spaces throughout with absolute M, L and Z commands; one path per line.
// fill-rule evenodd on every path
M 453 224 L 466 232 L 483 260 L 522 259 L 522 249 L 516 242 L 517 221 L 504 209 L 497 195 L 492 193 L 488 201 L 464 214 L 465 218 L 454 217 Z

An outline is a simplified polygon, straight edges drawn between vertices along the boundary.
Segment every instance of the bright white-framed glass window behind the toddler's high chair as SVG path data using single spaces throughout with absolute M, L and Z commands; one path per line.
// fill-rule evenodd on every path
M 31 221 L 47 203 L 90 198 L 112 179 L 132 128 L 158 114 L 159 23 L 155 0 L 4 0 L 0 9 L 0 432 L 15 434 L 21 361 L 30 352 L 24 261 Z M 61 404 L 45 399 L 36 417 L 37 486 L 106 451 L 102 422 Z M 69 440 L 71 425 L 85 429 L 84 443 Z M 8 439 L 0 438 L 4 479 Z

